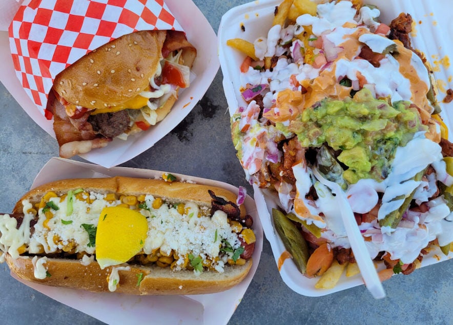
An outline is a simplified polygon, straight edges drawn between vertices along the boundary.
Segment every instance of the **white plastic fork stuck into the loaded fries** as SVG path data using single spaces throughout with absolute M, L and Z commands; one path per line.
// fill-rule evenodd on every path
M 317 168 L 313 168 L 313 174 L 328 188 L 331 189 L 332 193 L 336 195 L 338 205 L 340 208 L 341 218 L 343 220 L 346 234 L 351 244 L 351 248 L 354 253 L 357 265 L 359 266 L 360 273 L 362 274 L 363 281 L 368 291 L 376 299 L 385 297 L 385 291 L 382 286 L 381 280 L 379 279 L 376 267 L 369 256 L 368 250 L 365 246 L 365 241 L 360 233 L 359 226 L 357 225 L 354 217 L 354 212 L 347 202 L 346 195 L 341 189 L 340 185 L 335 182 L 325 179 Z

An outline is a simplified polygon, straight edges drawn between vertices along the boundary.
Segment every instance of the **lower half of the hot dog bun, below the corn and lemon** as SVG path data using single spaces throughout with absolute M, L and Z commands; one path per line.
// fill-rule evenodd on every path
M 99 264 L 84 266 L 77 260 L 48 259 L 46 266 L 52 275 L 36 279 L 30 257 L 13 259 L 6 254 L 11 272 L 19 278 L 51 286 L 83 289 L 91 292 L 108 292 L 106 278 L 112 267 L 101 270 Z M 159 266 L 131 267 L 129 271 L 118 271 L 119 285 L 115 292 L 132 295 L 195 295 L 221 292 L 241 282 L 252 267 L 252 259 L 244 265 L 225 268 L 224 273 L 204 272 L 195 277 L 193 271 L 172 272 Z M 137 277 L 143 273 L 143 280 L 137 286 Z

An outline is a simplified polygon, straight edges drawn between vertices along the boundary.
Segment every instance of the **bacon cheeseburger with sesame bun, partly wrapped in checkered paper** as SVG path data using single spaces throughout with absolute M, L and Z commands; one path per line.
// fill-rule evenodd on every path
M 59 155 L 84 154 L 161 121 L 179 88 L 189 86 L 196 55 L 183 32 L 138 31 L 60 72 L 47 105 L 54 116 Z

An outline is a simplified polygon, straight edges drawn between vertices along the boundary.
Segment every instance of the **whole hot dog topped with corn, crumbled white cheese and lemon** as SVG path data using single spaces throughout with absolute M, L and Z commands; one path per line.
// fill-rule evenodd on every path
M 55 181 L 0 216 L 0 258 L 18 277 L 52 286 L 219 292 L 252 265 L 253 220 L 234 202 L 223 188 L 177 181 Z

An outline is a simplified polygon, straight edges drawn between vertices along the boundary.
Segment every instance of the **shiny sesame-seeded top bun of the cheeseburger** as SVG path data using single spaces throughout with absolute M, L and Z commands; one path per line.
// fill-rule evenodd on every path
M 138 31 L 102 45 L 61 71 L 53 88 L 87 108 L 124 103 L 145 90 L 156 73 L 166 31 Z

